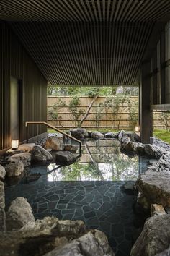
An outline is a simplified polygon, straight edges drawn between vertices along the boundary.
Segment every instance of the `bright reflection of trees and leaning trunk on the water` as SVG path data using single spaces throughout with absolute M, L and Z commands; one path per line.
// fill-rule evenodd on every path
M 119 148 L 113 147 L 114 153 L 107 153 L 107 147 L 96 145 L 97 150 L 92 150 L 86 144 L 91 163 L 73 163 L 64 166 L 58 171 L 62 180 L 134 180 L 138 176 L 138 157 L 130 158 L 122 154 Z M 111 148 L 111 147 L 110 147 Z M 84 152 L 85 153 L 85 152 Z

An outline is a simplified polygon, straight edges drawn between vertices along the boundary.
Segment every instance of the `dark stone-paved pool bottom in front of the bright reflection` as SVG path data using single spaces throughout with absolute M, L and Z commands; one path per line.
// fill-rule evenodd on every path
M 6 205 L 26 197 L 35 218 L 56 216 L 82 220 L 89 229 L 104 231 L 116 256 L 130 255 L 133 234 L 134 195 L 125 193 L 124 182 L 37 182 L 7 187 Z

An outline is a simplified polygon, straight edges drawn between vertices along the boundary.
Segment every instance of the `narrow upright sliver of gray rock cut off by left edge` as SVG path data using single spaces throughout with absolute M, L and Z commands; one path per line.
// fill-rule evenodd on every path
M 0 181 L 0 231 L 6 231 L 4 182 Z

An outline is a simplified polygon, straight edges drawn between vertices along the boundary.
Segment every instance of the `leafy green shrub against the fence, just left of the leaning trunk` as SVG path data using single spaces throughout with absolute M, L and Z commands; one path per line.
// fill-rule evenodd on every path
M 84 110 L 79 109 L 80 103 L 79 97 L 73 96 L 68 106 L 68 111 L 71 112 L 71 116 L 73 118 L 74 127 L 80 127 L 80 117 L 84 114 Z

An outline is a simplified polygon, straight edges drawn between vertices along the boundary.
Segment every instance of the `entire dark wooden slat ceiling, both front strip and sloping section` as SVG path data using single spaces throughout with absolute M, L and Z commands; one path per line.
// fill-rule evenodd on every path
M 169 0 L 4 0 L 12 26 L 51 84 L 133 85 Z

